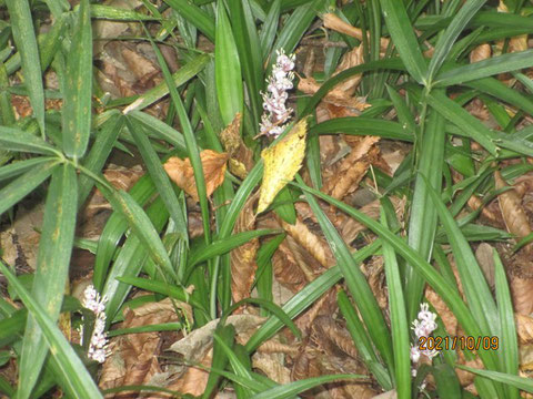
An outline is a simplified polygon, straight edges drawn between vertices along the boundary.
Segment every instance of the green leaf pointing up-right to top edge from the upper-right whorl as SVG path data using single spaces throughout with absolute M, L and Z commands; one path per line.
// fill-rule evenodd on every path
M 442 35 L 439 38 L 439 41 L 435 45 L 435 51 L 433 52 L 433 57 L 430 61 L 430 66 L 428 68 L 428 82 L 430 82 L 430 84 L 433 81 L 433 76 L 450 53 L 455 39 L 459 38 L 469 21 L 475 16 L 475 13 L 480 10 L 480 8 L 483 7 L 485 2 L 486 0 L 473 0 L 466 2 L 463 7 L 461 7 L 444 33 L 442 33 Z

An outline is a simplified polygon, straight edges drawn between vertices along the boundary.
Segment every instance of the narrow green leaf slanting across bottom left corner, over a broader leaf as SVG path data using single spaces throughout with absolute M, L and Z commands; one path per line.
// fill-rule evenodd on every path
M 103 398 L 92 380 L 91 375 L 87 371 L 86 366 L 76 355 L 61 330 L 56 326 L 56 321 L 47 315 L 47 310 L 41 306 L 39 300 L 30 295 L 2 262 L 0 262 L 0 272 L 2 272 L 9 280 L 9 284 L 13 287 L 32 317 L 36 318 L 37 323 L 42 328 L 43 336 L 51 349 L 50 351 L 52 356 L 57 359 L 62 377 L 68 382 L 69 388 L 76 393 L 77 398 Z M 44 349 L 48 350 L 48 348 Z M 28 383 L 28 381 L 23 382 L 23 385 L 26 383 Z M 27 398 L 27 396 L 23 396 L 19 389 L 18 398 Z

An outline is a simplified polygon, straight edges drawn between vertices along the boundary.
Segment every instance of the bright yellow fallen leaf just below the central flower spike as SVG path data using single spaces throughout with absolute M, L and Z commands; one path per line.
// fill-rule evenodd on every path
M 305 155 L 305 135 L 308 121 L 301 120 L 275 145 L 263 150 L 261 157 L 264 162 L 263 182 L 261 183 L 258 213 L 263 212 L 272 204 L 275 195 L 302 166 Z

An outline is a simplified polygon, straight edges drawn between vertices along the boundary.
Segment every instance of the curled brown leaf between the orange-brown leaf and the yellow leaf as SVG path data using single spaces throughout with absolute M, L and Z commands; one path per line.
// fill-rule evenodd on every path
M 253 167 L 253 153 L 241 139 L 241 114 L 238 112 L 233 121 L 220 133 L 220 141 L 230 154 L 230 172 L 245 178 Z

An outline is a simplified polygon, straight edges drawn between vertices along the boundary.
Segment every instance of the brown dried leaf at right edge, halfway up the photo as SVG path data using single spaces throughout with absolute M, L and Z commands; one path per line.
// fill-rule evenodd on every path
M 494 181 L 496 190 L 501 190 L 507 185 L 499 171 L 494 172 Z M 530 234 L 531 227 L 527 215 L 522 207 L 522 201 L 516 191 L 513 188 L 500 194 L 497 201 L 507 232 L 517 237 L 525 237 Z

